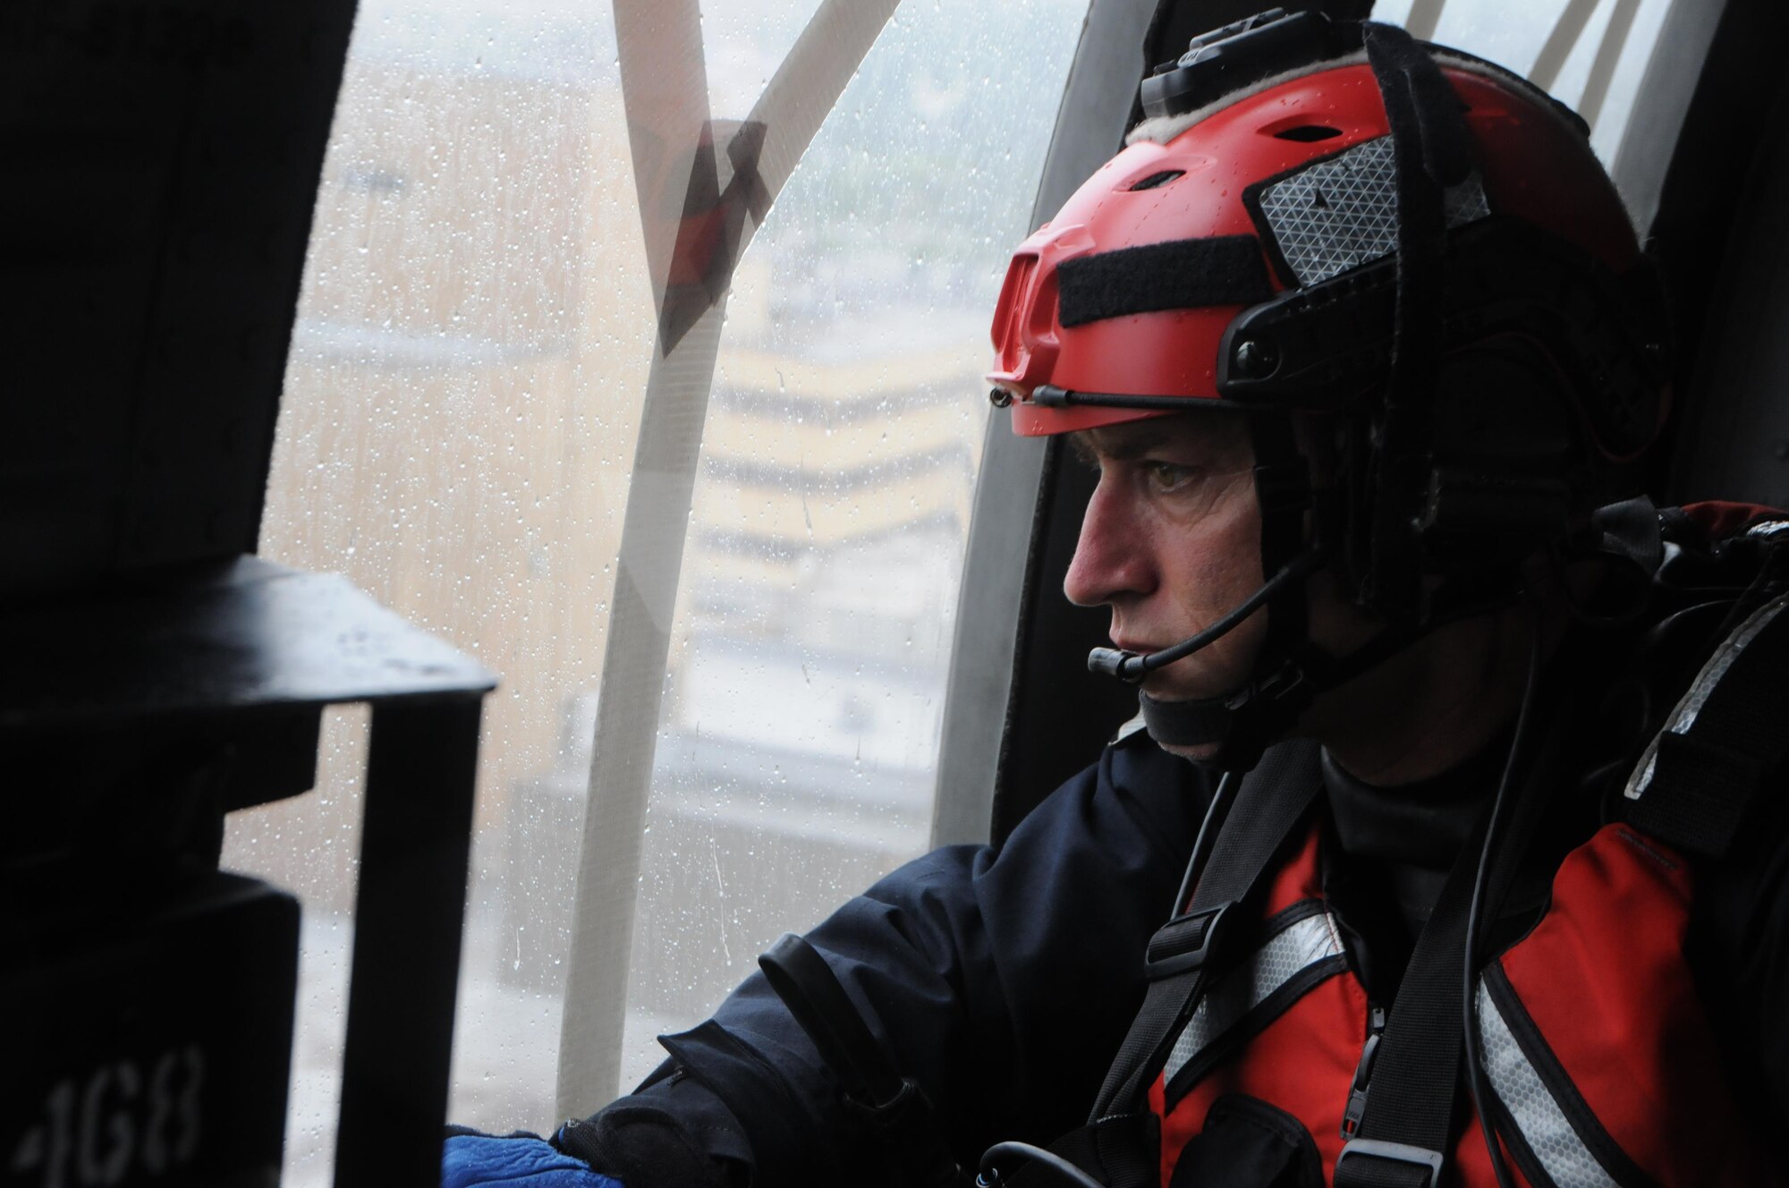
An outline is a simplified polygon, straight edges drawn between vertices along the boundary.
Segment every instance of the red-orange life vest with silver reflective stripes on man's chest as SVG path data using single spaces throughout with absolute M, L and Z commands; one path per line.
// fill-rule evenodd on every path
M 1539 923 L 1480 977 L 1485 1072 L 1526 1183 L 1773 1183 L 1683 961 L 1692 884 L 1669 848 L 1607 825 L 1567 855 Z M 1272 875 L 1265 911 L 1265 939 L 1211 982 L 1149 1093 L 1161 1184 L 1175 1184 L 1225 1095 L 1297 1118 L 1324 1183 L 1347 1141 L 1372 1006 L 1322 896 L 1317 828 Z M 1447 1183 L 1496 1184 L 1476 1125 L 1462 1127 L 1447 1168 Z

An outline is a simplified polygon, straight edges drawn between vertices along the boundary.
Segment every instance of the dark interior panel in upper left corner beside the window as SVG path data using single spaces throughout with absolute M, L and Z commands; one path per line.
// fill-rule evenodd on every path
M 7 14 L 0 601 L 254 551 L 352 18 Z

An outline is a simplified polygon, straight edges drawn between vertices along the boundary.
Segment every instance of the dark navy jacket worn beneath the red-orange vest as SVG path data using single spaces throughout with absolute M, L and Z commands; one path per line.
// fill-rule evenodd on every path
M 928 853 L 809 934 L 925 1088 L 964 1167 L 995 1141 L 1045 1145 L 1086 1120 L 1141 1004 L 1143 950 L 1208 802 L 1206 775 L 1134 734 L 998 850 Z M 1691 961 L 1726 1029 L 1734 1081 L 1776 1133 L 1789 1124 L 1789 796 L 1757 818 L 1725 864 L 1701 871 Z M 1338 911 L 1363 964 L 1354 950 L 1374 929 Z M 628 1188 L 884 1183 L 760 975 L 664 1043 L 673 1059 L 648 1086 L 556 1141 Z

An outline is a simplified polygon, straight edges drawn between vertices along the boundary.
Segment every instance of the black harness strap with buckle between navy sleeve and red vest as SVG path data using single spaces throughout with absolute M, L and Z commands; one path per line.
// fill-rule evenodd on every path
M 1274 853 L 1292 836 L 1322 787 L 1317 744 L 1281 742 L 1243 776 L 1225 819 L 1213 821 L 1217 841 L 1202 870 L 1190 870 L 1191 902 L 1150 939 L 1149 959 L 1165 977 L 1150 980 L 1131 1031 L 1118 1048 L 1090 1122 L 1147 1111 L 1147 1093 L 1174 1038 L 1186 1023 L 1209 972 L 1208 957 L 1234 932 L 1238 914 L 1225 911 L 1251 898 Z M 1222 809 L 1220 809 L 1222 812 Z M 1193 862 L 1199 862 L 1199 853 Z M 1175 905 L 1179 909 L 1179 905 Z

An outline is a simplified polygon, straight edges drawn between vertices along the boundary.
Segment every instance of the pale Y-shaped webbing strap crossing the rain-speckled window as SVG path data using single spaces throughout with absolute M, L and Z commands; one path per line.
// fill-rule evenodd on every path
M 640 834 L 728 279 L 894 4 L 823 0 L 814 9 L 735 131 L 737 143 L 726 143 L 732 177 L 723 186 L 721 129 L 708 116 L 696 0 L 615 0 L 623 104 L 660 336 L 615 560 L 603 653 L 606 692 L 596 716 L 578 852 L 558 1052 L 562 1118 L 581 1116 L 624 1088 L 621 1031 Z

